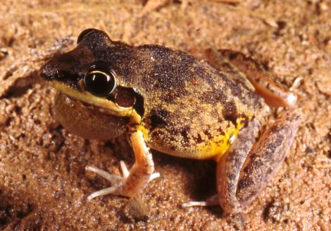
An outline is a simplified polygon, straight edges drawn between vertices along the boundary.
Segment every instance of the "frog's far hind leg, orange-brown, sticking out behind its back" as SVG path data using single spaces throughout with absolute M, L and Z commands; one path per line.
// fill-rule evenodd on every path
M 244 73 L 254 85 L 256 92 L 260 94 L 270 106 L 294 106 L 296 96 L 283 85 L 275 82 L 273 75 L 254 59 L 246 57 L 238 51 L 228 49 L 208 49 L 207 58 L 226 58 L 240 72 Z M 215 61 L 211 61 L 214 65 Z M 218 67 L 216 67 L 218 68 Z

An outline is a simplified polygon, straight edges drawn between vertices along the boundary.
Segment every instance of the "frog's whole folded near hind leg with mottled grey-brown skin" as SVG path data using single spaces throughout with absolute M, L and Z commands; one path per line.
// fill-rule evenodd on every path
M 251 120 L 217 165 L 218 202 L 225 213 L 239 213 L 268 185 L 292 144 L 301 116 L 289 110 L 254 144 L 259 123 Z

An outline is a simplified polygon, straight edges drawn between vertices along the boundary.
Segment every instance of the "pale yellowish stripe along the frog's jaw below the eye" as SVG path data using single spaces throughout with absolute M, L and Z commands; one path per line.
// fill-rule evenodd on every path
M 114 104 L 113 101 L 109 101 L 108 99 L 104 99 L 99 96 L 94 96 L 87 91 L 78 91 L 72 87 L 68 87 L 68 85 L 65 85 L 63 82 L 58 82 L 56 80 L 51 80 L 50 85 L 62 94 L 82 101 L 85 104 L 103 109 L 105 113 L 109 113 L 112 116 L 129 117 L 130 123 L 141 123 L 142 118 L 134 108 L 124 108 L 118 106 L 117 104 Z

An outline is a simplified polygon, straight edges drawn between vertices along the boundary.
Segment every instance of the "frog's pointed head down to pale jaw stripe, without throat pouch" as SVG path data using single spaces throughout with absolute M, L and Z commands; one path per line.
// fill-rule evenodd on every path
M 39 73 L 52 87 L 71 99 L 139 123 L 142 115 L 142 106 L 137 105 L 139 94 L 135 89 L 123 87 L 121 75 L 113 70 L 118 54 L 125 57 L 130 49 L 127 44 L 113 42 L 101 30 L 87 29 L 78 36 L 75 49 L 51 58 Z

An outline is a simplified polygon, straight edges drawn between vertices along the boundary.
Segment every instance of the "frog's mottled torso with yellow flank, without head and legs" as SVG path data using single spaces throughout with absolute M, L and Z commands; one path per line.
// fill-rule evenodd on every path
M 153 149 L 212 158 L 226 151 L 240 128 L 263 111 L 263 99 L 249 87 L 185 52 L 157 45 L 132 52 L 135 58 L 125 64 L 122 76 L 144 98 L 146 141 Z

